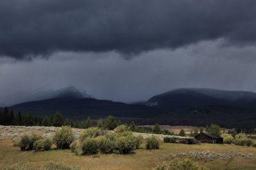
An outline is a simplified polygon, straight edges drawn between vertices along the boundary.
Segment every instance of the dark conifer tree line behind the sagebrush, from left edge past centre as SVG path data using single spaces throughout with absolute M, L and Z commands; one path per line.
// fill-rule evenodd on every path
M 8 107 L 4 107 L 3 111 L 0 111 L 0 125 L 44 127 L 70 126 L 73 128 L 99 127 L 113 130 L 119 125 L 127 124 L 122 123 L 121 120 L 117 120 L 114 116 L 108 116 L 106 120 L 99 119 L 97 121 L 92 121 L 90 117 L 88 117 L 85 121 L 78 121 L 64 118 L 61 112 L 56 112 L 50 116 L 33 116 L 31 114 L 22 114 L 21 112 L 15 114 L 13 111 L 9 111 Z M 173 135 L 173 133 L 169 132 L 168 130 L 161 130 L 159 124 L 157 123 L 154 125 L 154 128 L 138 126 L 134 123 L 134 121 L 131 121 L 131 123 L 129 123 L 127 126 L 129 126 L 132 132 Z

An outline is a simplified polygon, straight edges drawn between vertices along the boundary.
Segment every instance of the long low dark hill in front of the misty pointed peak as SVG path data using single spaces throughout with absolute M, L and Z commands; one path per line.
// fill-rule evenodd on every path
M 35 102 L 26 102 L 10 107 L 13 111 L 29 112 L 36 115 L 49 115 L 61 111 L 69 118 L 86 118 L 87 116 L 141 118 L 156 114 L 157 110 L 144 105 L 129 105 L 110 100 L 94 98 L 52 98 Z

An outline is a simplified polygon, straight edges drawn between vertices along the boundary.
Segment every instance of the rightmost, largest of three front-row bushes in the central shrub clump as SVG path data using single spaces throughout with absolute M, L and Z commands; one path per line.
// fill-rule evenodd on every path
M 123 136 L 117 137 L 115 146 L 116 146 L 116 150 L 118 150 L 120 154 L 131 153 L 132 150 L 136 149 L 136 142 L 134 140 L 134 136 L 123 135 Z

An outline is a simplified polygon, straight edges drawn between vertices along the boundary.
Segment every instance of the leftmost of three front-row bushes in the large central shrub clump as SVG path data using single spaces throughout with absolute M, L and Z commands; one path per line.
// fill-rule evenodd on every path
M 82 145 L 82 155 L 93 155 L 98 153 L 99 141 L 95 138 L 84 139 Z

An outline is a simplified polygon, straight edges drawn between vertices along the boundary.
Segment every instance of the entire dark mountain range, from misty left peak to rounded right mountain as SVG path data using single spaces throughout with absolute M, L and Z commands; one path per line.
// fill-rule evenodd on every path
M 225 127 L 256 127 L 256 93 L 250 91 L 181 88 L 156 95 L 147 102 L 125 104 L 98 100 L 69 87 L 55 92 L 52 98 L 13 105 L 10 109 L 40 116 L 61 111 L 65 117 L 78 120 L 113 115 L 141 124 L 218 123 Z

